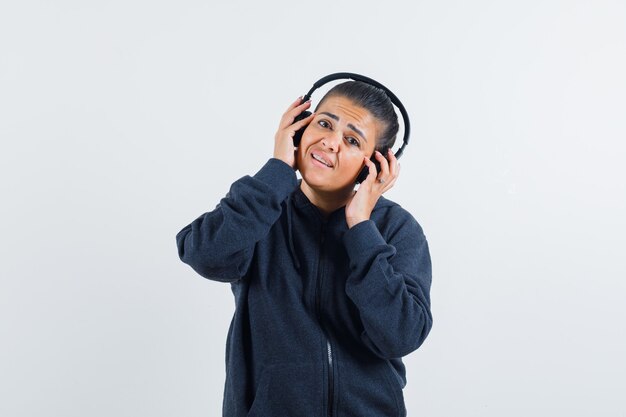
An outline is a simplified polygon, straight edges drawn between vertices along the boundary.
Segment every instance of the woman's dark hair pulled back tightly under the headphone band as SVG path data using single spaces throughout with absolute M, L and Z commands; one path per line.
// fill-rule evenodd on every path
M 398 115 L 384 90 L 362 81 L 346 81 L 331 88 L 317 107 L 327 98 L 337 96 L 352 100 L 382 123 L 383 132 L 376 138 L 376 150 L 386 151 L 393 146 L 399 129 Z

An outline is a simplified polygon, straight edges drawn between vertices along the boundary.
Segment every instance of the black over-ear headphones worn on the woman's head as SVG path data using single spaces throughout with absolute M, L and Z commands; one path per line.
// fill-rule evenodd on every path
M 396 158 L 400 158 L 400 156 L 402 156 L 402 152 L 404 152 L 404 147 L 409 143 L 409 133 L 411 132 L 411 123 L 409 122 L 409 115 L 407 114 L 406 109 L 404 108 L 404 106 L 402 105 L 402 102 L 398 99 L 398 97 L 396 97 L 396 95 L 393 92 L 391 92 L 391 90 L 389 90 L 387 87 L 385 87 L 378 81 L 375 81 L 371 78 L 368 78 L 359 74 L 354 74 L 351 72 L 337 72 L 334 74 L 327 75 L 326 77 L 321 78 L 315 84 L 313 84 L 313 87 L 309 90 L 309 92 L 306 93 L 304 97 L 302 97 L 301 103 L 304 103 L 305 101 L 309 100 L 313 92 L 317 90 L 318 88 L 320 88 L 321 86 L 323 86 L 324 84 L 327 84 L 331 81 L 344 79 L 344 78 L 351 79 L 354 81 L 362 81 L 366 84 L 370 84 L 370 85 L 373 85 L 374 87 L 380 88 L 387 94 L 387 96 L 389 97 L 389 100 L 391 100 L 391 102 L 398 108 L 398 110 L 400 110 L 400 114 L 402 115 L 402 121 L 404 124 L 404 138 L 402 138 L 402 146 L 394 154 Z M 310 111 L 304 111 L 300 113 L 298 116 L 296 116 L 294 123 L 299 120 L 309 117 L 311 114 L 312 113 Z M 296 147 L 300 144 L 300 140 L 302 139 L 302 134 L 304 133 L 305 129 L 306 129 L 306 126 L 299 129 L 295 133 L 293 137 L 293 143 Z M 383 151 L 384 151 L 383 156 L 387 158 L 385 154 L 387 150 L 383 149 Z M 378 160 L 376 160 L 375 156 L 372 156 L 371 161 L 376 166 L 376 171 L 377 172 L 380 171 L 380 163 L 378 162 Z M 356 178 L 356 183 L 358 184 L 358 183 L 365 181 L 368 174 L 369 174 L 369 169 L 367 168 L 367 166 L 363 167 L 363 169 L 361 170 L 361 172 Z

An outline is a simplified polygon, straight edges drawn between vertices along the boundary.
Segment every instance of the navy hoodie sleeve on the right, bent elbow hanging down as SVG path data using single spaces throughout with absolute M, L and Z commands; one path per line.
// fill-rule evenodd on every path
M 428 242 L 417 221 L 406 214 L 389 242 L 372 220 L 356 224 L 343 238 L 350 258 L 346 293 L 363 323 L 361 339 L 386 359 L 419 348 L 433 324 Z

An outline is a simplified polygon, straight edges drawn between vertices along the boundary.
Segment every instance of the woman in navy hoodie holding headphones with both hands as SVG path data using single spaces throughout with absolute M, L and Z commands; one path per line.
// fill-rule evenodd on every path
M 391 148 L 397 116 L 360 81 L 294 122 L 311 105 L 300 101 L 273 158 L 176 236 L 181 260 L 235 297 L 223 415 L 405 416 L 401 357 L 432 327 L 431 264 L 419 224 L 382 197 L 397 159 L 376 151 L 380 172 L 370 160 Z

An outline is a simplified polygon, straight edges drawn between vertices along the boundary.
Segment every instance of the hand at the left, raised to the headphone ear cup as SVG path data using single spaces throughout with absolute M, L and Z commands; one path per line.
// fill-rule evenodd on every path
M 300 104 L 301 101 L 302 97 L 298 97 L 298 99 L 287 108 L 287 111 L 280 119 L 278 131 L 274 136 L 274 158 L 280 159 L 293 169 L 297 169 L 296 147 L 293 144 L 293 137 L 300 128 L 311 123 L 311 120 L 313 120 L 315 116 L 315 113 L 313 113 L 309 117 L 305 117 L 296 123 L 293 122 L 296 116 L 311 106 L 311 100 Z

